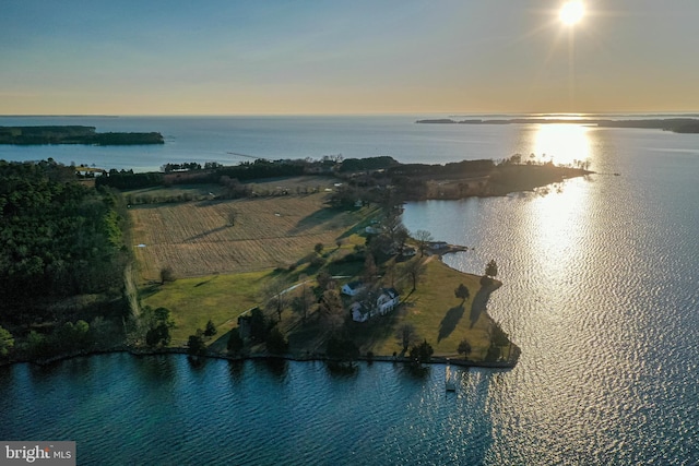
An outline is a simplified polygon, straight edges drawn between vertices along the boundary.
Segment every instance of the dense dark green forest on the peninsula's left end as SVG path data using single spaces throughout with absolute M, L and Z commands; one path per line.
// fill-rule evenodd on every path
M 68 171 L 67 171 L 68 170 Z M 119 290 L 127 249 L 118 196 L 67 180 L 52 160 L 0 160 L 0 318 L 27 301 Z

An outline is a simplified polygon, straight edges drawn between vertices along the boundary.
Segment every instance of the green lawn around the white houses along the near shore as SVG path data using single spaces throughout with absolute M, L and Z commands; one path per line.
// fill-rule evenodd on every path
M 329 256 L 341 253 L 334 251 Z M 328 252 L 327 252 L 328 253 Z M 347 263 L 346 271 L 354 271 L 356 263 Z M 264 271 L 236 275 L 210 275 L 198 278 L 182 278 L 163 286 L 153 285 L 142 289 L 142 303 L 145 306 L 165 307 L 171 311 L 176 327 L 171 331 L 171 346 L 182 346 L 189 335 L 197 328 L 204 328 L 211 319 L 218 333 L 209 342 L 212 349 L 225 350 L 227 334 L 237 325 L 237 318 L 244 311 L 262 306 L 262 289 L 272 278 L 283 277 L 289 285 L 298 283 L 311 272 L 306 266 L 295 271 Z M 316 285 L 315 276 L 308 273 L 308 286 Z M 435 356 L 460 357 L 457 351 L 459 343 L 466 338 L 473 350 L 470 359 L 482 360 L 489 347 L 490 318 L 485 312 L 473 310 L 476 296 L 485 298 L 481 289 L 479 276 L 464 274 L 452 270 L 437 259 L 427 264 L 427 273 L 411 292 L 412 286 L 404 282 L 402 300 L 399 310 L 386 315 L 376 316 L 368 322 L 357 323 L 350 319 L 346 331 L 357 343 L 362 354 L 372 351 L 376 356 L 401 354 L 401 345 L 396 337 L 398 328 L 408 323 L 416 330 L 417 336 L 426 338 L 435 348 Z M 340 285 L 344 283 L 341 280 Z M 462 302 L 454 296 L 459 284 L 464 284 L 471 297 Z M 400 286 L 399 286 L 400 287 Z M 276 319 L 276 314 L 268 314 Z M 473 319 L 473 325 L 472 325 Z M 324 353 L 324 340 L 329 336 L 319 323 L 318 315 L 311 313 L 306 323 L 300 315 L 286 309 L 282 313 L 282 331 L 291 342 L 291 351 L 297 355 L 306 353 Z

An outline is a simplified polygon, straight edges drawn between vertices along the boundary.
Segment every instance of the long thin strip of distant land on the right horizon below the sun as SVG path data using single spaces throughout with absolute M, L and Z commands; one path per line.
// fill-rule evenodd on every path
M 438 118 L 433 120 L 417 120 L 416 123 L 431 124 L 522 124 L 522 123 L 569 123 L 588 124 L 600 128 L 640 128 L 672 131 L 674 133 L 699 133 L 699 119 L 696 118 L 666 118 L 647 120 L 607 120 L 607 119 L 538 119 L 538 118 L 510 118 L 494 120 L 453 120 L 451 118 Z

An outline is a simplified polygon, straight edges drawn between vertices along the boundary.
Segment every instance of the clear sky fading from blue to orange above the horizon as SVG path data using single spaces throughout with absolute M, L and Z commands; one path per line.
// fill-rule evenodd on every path
M 698 0 L 2 0 L 0 115 L 699 110 Z

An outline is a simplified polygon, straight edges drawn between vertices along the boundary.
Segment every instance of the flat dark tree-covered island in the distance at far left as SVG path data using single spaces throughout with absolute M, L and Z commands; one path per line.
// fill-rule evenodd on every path
M 87 144 L 87 145 L 142 145 L 164 144 L 163 134 L 151 133 L 97 133 L 95 127 L 0 127 L 0 144 Z

